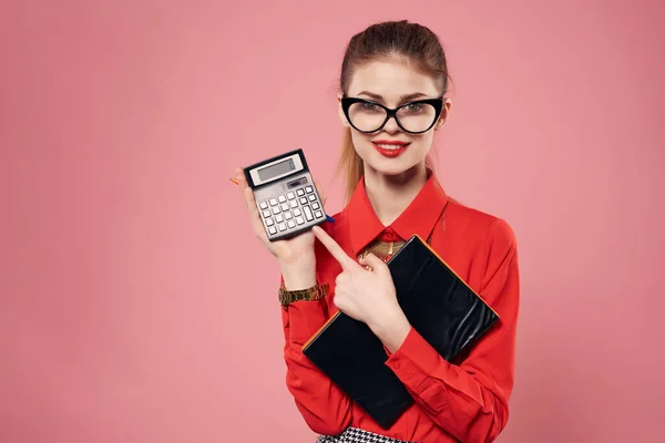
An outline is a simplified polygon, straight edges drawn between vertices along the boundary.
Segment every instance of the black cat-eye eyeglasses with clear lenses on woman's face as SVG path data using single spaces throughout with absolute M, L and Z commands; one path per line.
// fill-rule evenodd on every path
M 359 132 L 372 133 L 382 128 L 390 117 L 405 132 L 422 134 L 429 131 L 443 109 L 443 97 L 417 100 L 398 107 L 386 107 L 371 100 L 342 97 L 341 109 L 347 120 Z

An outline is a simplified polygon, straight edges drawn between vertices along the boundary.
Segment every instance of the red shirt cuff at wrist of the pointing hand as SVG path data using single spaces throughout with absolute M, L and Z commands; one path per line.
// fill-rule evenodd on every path
M 440 373 L 446 370 L 442 365 L 450 363 L 411 327 L 401 347 L 393 353 L 388 352 L 386 364 L 410 391 L 420 394 L 429 384 L 429 375 Z

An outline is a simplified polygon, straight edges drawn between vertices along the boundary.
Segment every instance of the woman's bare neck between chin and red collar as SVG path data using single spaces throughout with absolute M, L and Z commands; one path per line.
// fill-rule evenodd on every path
M 424 162 L 398 175 L 385 175 L 365 166 L 367 197 L 383 226 L 389 226 L 399 217 L 427 179 Z

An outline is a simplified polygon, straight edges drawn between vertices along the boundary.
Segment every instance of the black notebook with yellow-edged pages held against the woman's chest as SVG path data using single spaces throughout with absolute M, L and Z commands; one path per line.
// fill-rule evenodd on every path
M 407 319 L 451 363 L 499 319 L 418 235 L 392 256 L 388 268 Z M 305 343 L 303 353 L 383 429 L 413 402 L 385 364 L 381 341 L 367 324 L 342 312 Z

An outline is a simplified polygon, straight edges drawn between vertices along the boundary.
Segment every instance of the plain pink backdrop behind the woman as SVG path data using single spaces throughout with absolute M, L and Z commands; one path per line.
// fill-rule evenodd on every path
M 0 441 L 313 442 L 228 177 L 303 147 L 338 212 L 342 51 L 400 18 L 448 51 L 443 185 L 520 241 L 500 441 L 658 440 L 664 4 L 4 2 Z

